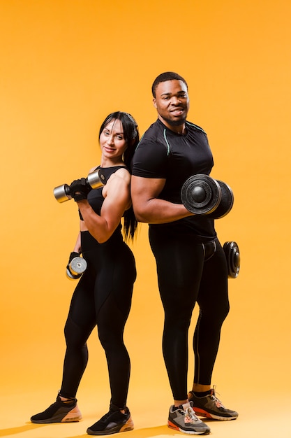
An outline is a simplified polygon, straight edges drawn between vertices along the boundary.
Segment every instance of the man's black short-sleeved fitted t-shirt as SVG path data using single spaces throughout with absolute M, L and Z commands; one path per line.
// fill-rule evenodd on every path
M 132 174 L 142 178 L 165 178 L 159 199 L 181 204 L 181 188 L 186 179 L 195 174 L 209 175 L 214 165 L 204 130 L 186 122 L 186 133 L 181 135 L 156 120 L 142 136 L 133 156 Z M 150 227 L 173 229 L 174 232 L 194 232 L 198 241 L 216 236 L 214 220 L 207 216 L 190 216 L 167 224 Z

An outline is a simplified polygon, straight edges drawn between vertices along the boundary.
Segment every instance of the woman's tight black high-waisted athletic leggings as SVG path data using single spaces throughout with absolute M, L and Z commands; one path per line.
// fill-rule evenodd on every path
M 82 254 L 88 266 L 75 288 L 66 321 L 66 355 L 60 393 L 64 397 L 75 397 L 87 366 L 87 339 L 97 325 L 107 359 L 111 402 L 123 408 L 130 376 L 130 359 L 123 335 L 136 278 L 135 260 L 120 232 L 102 244 L 89 232 L 82 232 L 81 239 Z

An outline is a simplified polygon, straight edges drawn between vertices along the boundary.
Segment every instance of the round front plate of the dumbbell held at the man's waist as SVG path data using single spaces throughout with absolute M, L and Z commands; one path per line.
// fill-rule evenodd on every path
M 211 176 L 193 175 L 185 181 L 181 189 L 181 201 L 191 213 L 208 215 L 221 202 L 221 186 Z

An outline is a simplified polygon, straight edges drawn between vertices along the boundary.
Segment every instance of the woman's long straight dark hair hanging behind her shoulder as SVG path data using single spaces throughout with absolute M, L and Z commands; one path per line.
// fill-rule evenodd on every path
M 103 129 L 108 123 L 112 120 L 120 120 L 122 127 L 124 129 L 124 139 L 127 144 L 127 148 L 124 151 L 124 164 L 130 171 L 131 160 L 133 159 L 133 154 L 135 153 L 135 148 L 137 147 L 137 143 L 140 141 L 140 134 L 137 128 L 137 122 L 132 115 L 128 113 L 123 113 L 122 111 L 116 111 L 107 115 L 103 124 L 100 127 L 99 137 Z M 135 230 L 137 229 L 137 220 L 135 218 L 135 213 L 133 212 L 133 206 L 130 209 L 124 212 L 124 237 L 125 239 L 133 239 L 135 234 Z

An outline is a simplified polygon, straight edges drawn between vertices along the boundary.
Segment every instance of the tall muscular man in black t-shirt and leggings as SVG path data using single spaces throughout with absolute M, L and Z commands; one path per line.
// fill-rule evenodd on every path
M 209 433 L 200 416 L 232 420 L 211 389 L 221 326 L 229 311 L 227 262 L 207 215 L 190 213 L 181 187 L 214 165 L 204 130 L 186 120 L 188 85 L 177 73 L 159 75 L 152 85 L 158 120 L 147 129 L 133 157 L 131 194 L 135 216 L 149 223 L 158 287 L 165 311 L 163 356 L 174 397 L 168 426 L 193 435 Z M 188 328 L 195 302 L 200 314 L 193 336 L 195 370 L 187 394 Z

